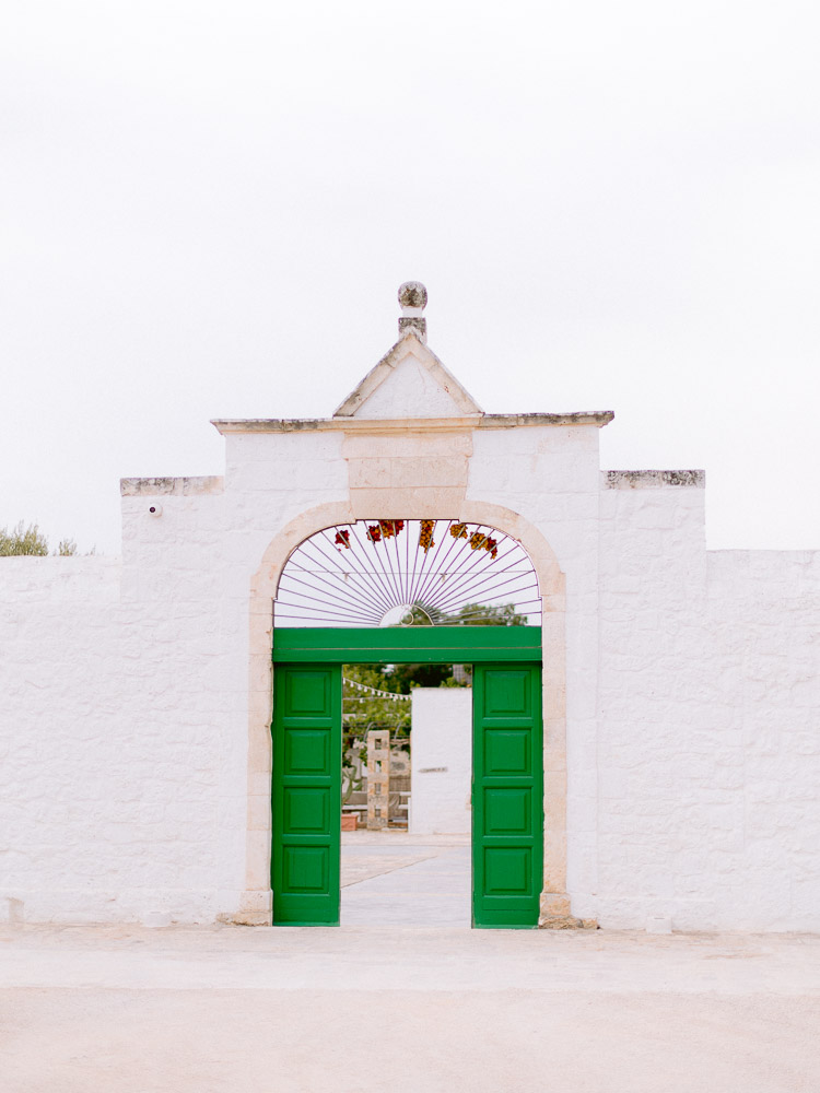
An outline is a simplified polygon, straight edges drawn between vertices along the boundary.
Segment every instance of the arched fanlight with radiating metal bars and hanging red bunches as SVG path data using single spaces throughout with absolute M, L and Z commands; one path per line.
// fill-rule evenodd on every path
M 540 625 L 532 563 L 515 539 L 457 520 L 356 520 L 288 559 L 278 626 Z

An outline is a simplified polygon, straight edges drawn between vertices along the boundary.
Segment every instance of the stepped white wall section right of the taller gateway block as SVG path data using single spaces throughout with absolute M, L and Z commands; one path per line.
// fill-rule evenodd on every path
M 817 930 L 820 553 L 706 552 L 703 496 L 601 493 L 590 902 L 610 927 Z

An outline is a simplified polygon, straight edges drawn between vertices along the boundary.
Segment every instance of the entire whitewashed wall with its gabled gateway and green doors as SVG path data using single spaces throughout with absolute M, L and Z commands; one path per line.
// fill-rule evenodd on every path
M 440 655 L 483 680 L 477 925 L 820 929 L 820 552 L 707 551 L 703 472 L 601 470 L 610 412 L 485 413 L 425 299 L 332 416 L 124 479 L 121 557 L 0 562 L 12 919 L 332 920 L 340 666 Z M 527 625 L 464 625 L 505 557 Z

